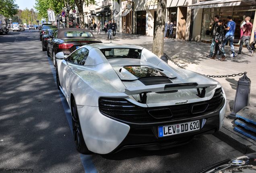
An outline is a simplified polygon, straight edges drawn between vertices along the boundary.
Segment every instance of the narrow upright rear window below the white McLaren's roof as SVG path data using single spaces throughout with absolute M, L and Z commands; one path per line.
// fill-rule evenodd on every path
M 105 48 L 101 52 L 107 59 L 111 58 L 134 58 L 140 59 L 141 49 L 133 48 Z

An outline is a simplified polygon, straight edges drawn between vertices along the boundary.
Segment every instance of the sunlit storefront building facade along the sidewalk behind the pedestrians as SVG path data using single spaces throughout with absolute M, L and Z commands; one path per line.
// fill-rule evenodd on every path
M 234 44 L 238 44 L 245 16 L 251 17 L 253 30 L 256 27 L 255 11 L 255 0 L 167 0 L 165 21 L 176 23 L 172 38 L 210 42 L 214 16 L 224 20 L 232 16 L 236 23 Z M 85 6 L 84 12 L 88 24 L 100 22 L 103 28 L 108 20 L 116 20 L 120 32 L 153 36 L 157 0 L 96 0 L 95 5 Z

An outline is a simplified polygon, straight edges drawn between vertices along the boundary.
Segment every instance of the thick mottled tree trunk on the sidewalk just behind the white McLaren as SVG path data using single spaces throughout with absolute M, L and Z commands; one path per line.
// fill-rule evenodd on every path
M 159 58 L 163 55 L 163 38 L 165 30 L 165 14 L 167 0 L 158 0 L 155 34 L 153 38 L 153 53 Z

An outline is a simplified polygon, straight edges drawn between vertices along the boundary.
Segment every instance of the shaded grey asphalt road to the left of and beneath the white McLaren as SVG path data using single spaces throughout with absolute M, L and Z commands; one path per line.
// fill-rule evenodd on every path
M 238 153 L 202 136 L 161 151 L 81 155 L 74 147 L 69 122 L 70 111 L 56 88 L 52 60 L 41 49 L 38 30 L 1 35 L 2 172 L 11 172 L 7 168 L 36 173 L 195 173 Z

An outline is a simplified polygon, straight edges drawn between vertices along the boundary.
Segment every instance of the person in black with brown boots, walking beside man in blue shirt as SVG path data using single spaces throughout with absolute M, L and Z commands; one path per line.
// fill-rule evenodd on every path
M 223 20 L 220 19 L 218 21 L 218 27 L 216 29 L 216 34 L 215 34 L 215 37 L 214 37 L 214 40 L 215 40 L 215 52 L 214 52 L 214 55 L 211 59 L 215 59 L 216 58 L 216 55 L 217 55 L 217 52 L 219 50 L 219 52 L 221 53 L 221 61 L 224 61 L 225 60 L 225 55 L 223 54 L 222 52 L 222 44 L 224 42 L 224 35 L 225 33 L 225 28 L 223 26 Z

